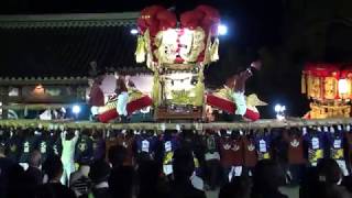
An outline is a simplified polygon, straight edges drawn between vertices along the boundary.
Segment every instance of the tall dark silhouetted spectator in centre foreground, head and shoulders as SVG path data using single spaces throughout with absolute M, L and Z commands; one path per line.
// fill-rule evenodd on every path
M 170 187 L 170 198 L 205 198 L 206 194 L 196 189 L 190 182 L 195 172 L 193 153 L 187 148 L 175 151 L 174 161 L 174 182 Z

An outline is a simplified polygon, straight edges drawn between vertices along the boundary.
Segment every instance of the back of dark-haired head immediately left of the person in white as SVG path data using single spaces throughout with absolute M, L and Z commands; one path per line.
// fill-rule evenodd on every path
M 56 155 L 47 158 L 43 164 L 43 170 L 47 175 L 48 180 L 59 179 L 63 175 L 62 160 Z

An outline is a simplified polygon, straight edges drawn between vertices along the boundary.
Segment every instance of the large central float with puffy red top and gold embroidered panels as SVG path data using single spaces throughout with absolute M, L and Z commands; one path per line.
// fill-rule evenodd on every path
M 157 120 L 204 118 L 204 67 L 219 59 L 220 14 L 199 6 L 179 15 L 145 8 L 138 19 L 138 63 L 153 70 L 152 99 Z

